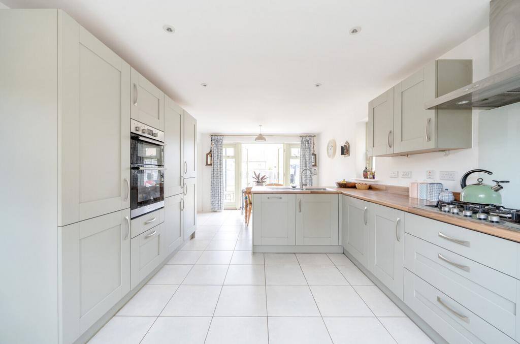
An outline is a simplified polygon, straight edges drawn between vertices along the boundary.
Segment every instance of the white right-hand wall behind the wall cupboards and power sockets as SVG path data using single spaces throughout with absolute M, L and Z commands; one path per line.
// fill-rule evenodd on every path
M 489 75 L 489 28 L 486 28 L 468 40 L 451 49 L 442 56 L 432 56 L 432 59 L 473 59 L 473 80 L 477 81 Z M 407 78 L 402 75 L 400 80 Z M 376 97 L 377 95 L 374 95 Z M 367 104 L 368 109 L 368 104 Z M 366 110 L 368 111 L 368 110 Z M 460 190 L 459 179 L 461 175 L 478 167 L 478 113 L 482 110 L 473 110 L 473 147 L 470 149 L 453 150 L 448 156 L 444 152 L 410 155 L 409 157 L 378 157 L 375 158 L 376 179 L 383 184 L 408 186 L 414 180 L 422 181 L 426 177 L 426 170 L 434 170 L 438 180 L 439 171 L 456 171 L 456 181 L 441 181 L 445 187 L 451 190 Z M 368 114 L 364 113 L 367 117 Z M 321 185 L 333 185 L 334 181 L 360 177 L 365 168 L 365 128 L 360 123 L 349 123 L 348 118 L 359 118 L 358 113 L 346 113 L 343 120 L 331 123 L 331 130 L 320 133 L 322 156 L 329 138 L 350 138 L 350 144 L 355 142 L 356 147 L 351 148 L 357 155 L 354 159 L 345 160 L 337 157 L 326 159 L 321 165 Z M 366 119 L 365 119 L 366 121 Z M 356 128 L 356 129 L 355 129 Z M 355 130 L 355 132 L 353 132 Z M 362 145 L 360 147 L 359 145 Z M 348 159 L 348 158 L 347 158 Z M 412 171 L 411 179 L 390 178 L 389 172 Z M 476 177 L 476 176 L 475 176 Z

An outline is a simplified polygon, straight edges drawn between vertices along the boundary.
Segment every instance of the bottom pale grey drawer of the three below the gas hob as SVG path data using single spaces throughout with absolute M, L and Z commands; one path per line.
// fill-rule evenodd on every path
M 450 343 L 515 343 L 443 292 L 405 269 L 405 303 Z

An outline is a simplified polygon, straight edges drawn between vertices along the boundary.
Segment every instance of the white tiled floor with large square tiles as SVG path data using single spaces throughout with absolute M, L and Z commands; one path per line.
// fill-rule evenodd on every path
M 90 343 L 432 343 L 344 254 L 251 253 L 239 211 L 197 221 Z

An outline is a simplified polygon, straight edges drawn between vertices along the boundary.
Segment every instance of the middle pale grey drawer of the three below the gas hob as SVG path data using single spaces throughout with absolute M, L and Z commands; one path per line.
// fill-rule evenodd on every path
M 516 333 L 516 279 L 406 234 L 405 267 L 505 334 Z

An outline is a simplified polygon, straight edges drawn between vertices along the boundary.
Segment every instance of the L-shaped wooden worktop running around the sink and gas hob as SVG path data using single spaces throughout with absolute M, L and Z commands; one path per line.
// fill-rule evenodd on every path
M 432 204 L 433 202 L 410 198 L 402 193 L 398 194 L 380 189 L 359 190 L 356 188 L 338 187 L 327 187 L 327 190 L 272 190 L 262 186 L 253 187 L 251 192 L 253 194 L 342 194 L 520 243 L 520 231 L 514 231 L 500 225 L 466 220 L 462 216 L 459 218 L 441 212 L 416 208 L 421 205 Z

